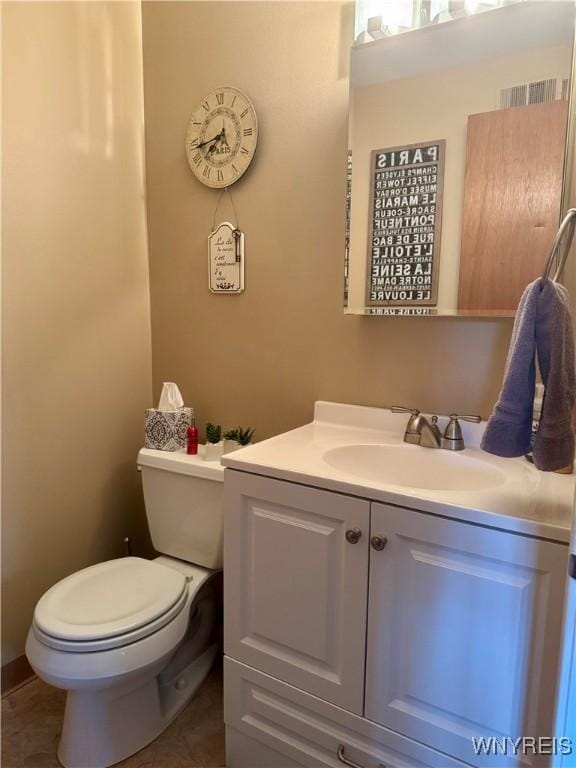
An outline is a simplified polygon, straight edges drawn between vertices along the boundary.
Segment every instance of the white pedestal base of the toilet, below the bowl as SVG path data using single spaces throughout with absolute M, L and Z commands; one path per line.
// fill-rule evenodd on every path
M 64 768 L 108 768 L 154 741 L 192 699 L 219 652 L 214 643 L 169 679 L 129 691 L 69 691 L 58 748 Z M 160 671 L 160 670 L 159 670 Z

